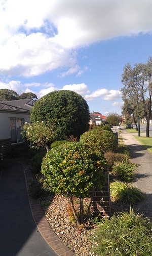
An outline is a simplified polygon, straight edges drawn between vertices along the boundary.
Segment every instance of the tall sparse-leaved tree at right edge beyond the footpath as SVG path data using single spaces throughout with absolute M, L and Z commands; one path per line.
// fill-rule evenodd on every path
M 122 74 L 123 99 L 129 101 L 132 109 L 141 118 L 146 118 L 146 137 L 149 137 L 152 92 L 152 58 L 146 64 L 138 63 L 132 68 L 128 63 Z

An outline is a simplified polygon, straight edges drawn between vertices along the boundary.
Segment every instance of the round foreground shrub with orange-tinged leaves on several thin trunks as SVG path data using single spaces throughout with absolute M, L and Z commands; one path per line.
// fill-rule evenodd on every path
M 84 222 L 83 199 L 91 198 L 87 214 L 89 219 L 93 191 L 95 188 L 102 188 L 106 172 L 107 161 L 104 156 L 80 142 L 69 142 L 52 148 L 42 163 L 45 184 L 48 184 L 53 192 L 69 199 L 78 225 Z M 75 210 L 75 197 L 80 201 L 79 213 Z

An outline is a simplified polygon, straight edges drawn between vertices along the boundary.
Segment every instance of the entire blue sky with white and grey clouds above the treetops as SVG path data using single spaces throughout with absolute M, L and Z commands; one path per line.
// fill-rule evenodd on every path
M 0 89 L 81 94 L 121 114 L 124 66 L 152 56 L 151 0 L 2 0 Z

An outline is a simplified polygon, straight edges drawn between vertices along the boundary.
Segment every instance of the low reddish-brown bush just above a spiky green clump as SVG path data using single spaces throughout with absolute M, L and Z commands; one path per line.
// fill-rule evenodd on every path
M 121 162 L 126 160 L 126 155 L 123 153 L 116 153 L 112 151 L 105 152 L 104 157 L 108 161 L 109 166 L 113 166 L 115 162 Z

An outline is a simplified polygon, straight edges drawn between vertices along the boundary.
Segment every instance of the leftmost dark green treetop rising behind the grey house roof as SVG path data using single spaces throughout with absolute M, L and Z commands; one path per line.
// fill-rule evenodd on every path
M 19 99 L 19 95 L 9 89 L 0 89 L 0 101 L 9 101 Z

